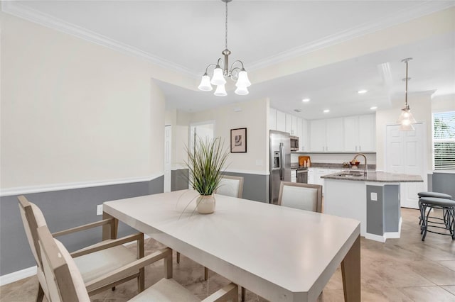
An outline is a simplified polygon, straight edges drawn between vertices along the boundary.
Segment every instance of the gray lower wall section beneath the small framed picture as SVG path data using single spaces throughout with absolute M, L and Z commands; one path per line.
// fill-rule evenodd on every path
M 226 175 L 243 177 L 242 198 L 269 203 L 269 175 L 225 172 Z

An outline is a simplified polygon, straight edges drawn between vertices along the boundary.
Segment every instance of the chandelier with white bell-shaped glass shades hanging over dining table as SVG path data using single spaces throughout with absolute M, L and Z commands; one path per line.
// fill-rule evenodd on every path
M 228 50 L 228 2 L 232 0 L 221 0 L 225 3 L 226 6 L 226 18 L 225 18 L 225 50 L 221 52 L 224 56 L 224 61 L 219 58 L 216 64 L 210 64 L 205 68 L 205 73 L 202 76 L 200 84 L 198 86 L 199 90 L 202 91 L 212 91 L 212 85 L 216 85 L 215 96 L 227 96 L 225 89 L 226 79 L 230 78 L 235 82 L 235 93 L 245 96 L 249 94 L 248 87 L 251 86 L 251 82 L 248 79 L 248 74 L 243 67 L 243 62 L 237 60 L 232 63 L 229 69 L 229 55 L 230 50 Z M 212 79 L 208 76 L 208 69 L 210 67 L 215 67 L 213 69 Z

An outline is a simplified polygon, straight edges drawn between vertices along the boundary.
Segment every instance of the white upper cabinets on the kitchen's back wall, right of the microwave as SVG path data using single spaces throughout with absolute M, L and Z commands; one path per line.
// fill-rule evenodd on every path
M 375 152 L 375 116 L 310 121 L 311 152 Z

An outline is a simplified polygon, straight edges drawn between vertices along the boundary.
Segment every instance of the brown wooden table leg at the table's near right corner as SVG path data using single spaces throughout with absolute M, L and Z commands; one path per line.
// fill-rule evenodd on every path
M 360 236 L 341 262 L 344 301 L 360 302 Z

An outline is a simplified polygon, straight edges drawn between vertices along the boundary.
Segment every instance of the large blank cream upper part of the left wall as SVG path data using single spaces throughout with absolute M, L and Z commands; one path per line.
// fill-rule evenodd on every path
M 160 72 L 1 13 L 1 189 L 162 174 Z

